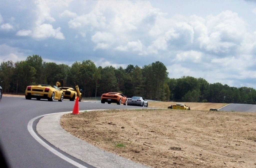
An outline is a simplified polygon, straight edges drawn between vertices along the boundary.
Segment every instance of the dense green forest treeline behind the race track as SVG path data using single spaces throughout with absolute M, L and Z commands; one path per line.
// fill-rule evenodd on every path
M 25 61 L 6 61 L 0 66 L 0 86 L 4 93 L 25 93 L 28 85 L 51 84 L 63 80 L 64 86 L 79 84 L 83 97 L 101 96 L 107 92 L 121 92 L 127 97 L 183 102 L 216 102 L 256 104 L 256 91 L 248 87 L 210 84 L 203 78 L 182 76 L 174 79 L 162 62 L 156 61 L 142 68 L 128 65 L 125 69 L 97 67 L 91 60 L 74 62 L 72 66 L 44 62 L 38 55 Z

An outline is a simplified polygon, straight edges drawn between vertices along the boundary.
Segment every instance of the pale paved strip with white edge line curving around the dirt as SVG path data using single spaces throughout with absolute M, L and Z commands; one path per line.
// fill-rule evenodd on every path
M 125 109 L 127 110 L 127 109 Z M 84 111 L 84 110 L 83 110 Z M 80 111 L 80 112 L 83 112 Z M 86 110 L 86 111 L 99 111 L 99 110 Z M 30 134 L 44 147 L 48 150 L 59 156 L 60 158 L 68 161 L 69 163 L 77 167 L 85 167 L 72 159 L 61 154 L 57 150 L 50 147 L 42 139 L 40 139 L 34 132 L 32 125 L 33 122 L 42 117 L 37 123 L 36 130 L 39 135 L 46 139 L 50 144 L 59 148 L 60 150 L 70 154 L 71 156 L 78 158 L 85 163 L 92 165 L 94 167 L 138 167 L 145 168 L 142 164 L 133 162 L 124 157 L 118 156 L 111 152 L 104 151 L 98 147 L 87 143 L 84 140 L 81 140 L 67 131 L 65 131 L 60 126 L 60 118 L 63 114 L 72 113 L 72 112 L 62 112 L 62 113 L 53 113 L 47 115 L 38 116 L 28 123 L 28 131 Z

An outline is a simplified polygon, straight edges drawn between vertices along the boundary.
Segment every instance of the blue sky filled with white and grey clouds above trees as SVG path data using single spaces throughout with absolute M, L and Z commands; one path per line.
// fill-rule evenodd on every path
M 2 0 L 0 62 L 33 54 L 256 88 L 256 1 Z

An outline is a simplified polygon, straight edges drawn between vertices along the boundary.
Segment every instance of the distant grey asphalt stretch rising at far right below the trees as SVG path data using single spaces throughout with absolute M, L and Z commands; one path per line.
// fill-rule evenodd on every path
M 248 104 L 229 104 L 218 111 L 240 111 L 240 112 L 256 112 L 256 105 Z

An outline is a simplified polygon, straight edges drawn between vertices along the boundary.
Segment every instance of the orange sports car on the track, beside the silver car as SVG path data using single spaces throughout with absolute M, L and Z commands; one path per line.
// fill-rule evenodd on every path
M 118 105 L 124 104 L 127 105 L 127 99 L 126 96 L 124 96 L 122 93 L 115 93 L 115 92 L 109 92 L 101 95 L 101 103 L 108 102 L 110 103 L 116 103 Z

